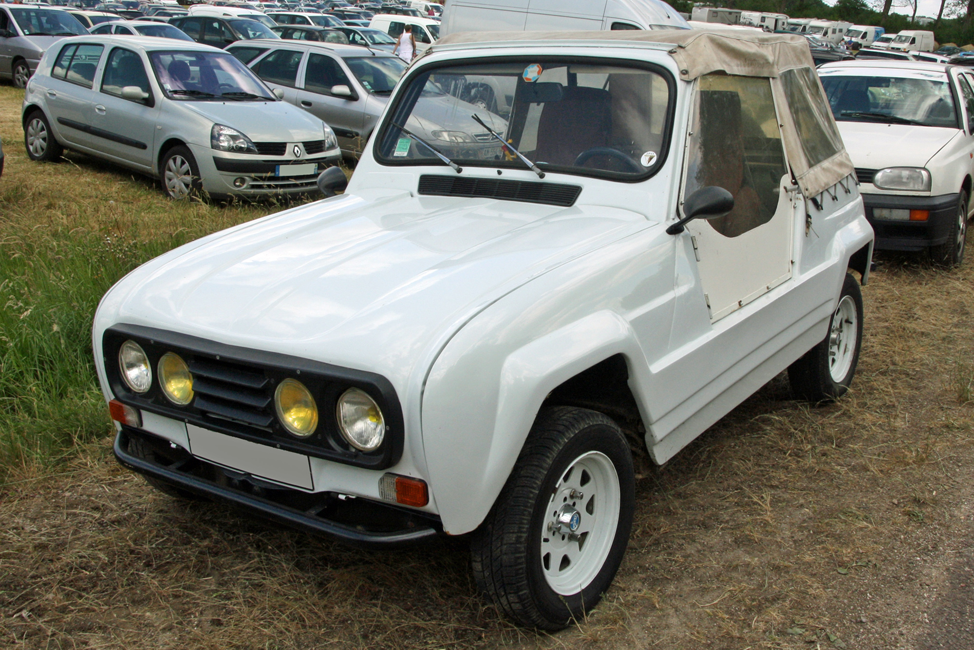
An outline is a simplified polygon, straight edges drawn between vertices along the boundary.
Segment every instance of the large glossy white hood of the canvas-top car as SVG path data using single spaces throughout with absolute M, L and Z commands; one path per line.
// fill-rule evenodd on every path
M 604 207 L 344 195 L 170 251 L 116 285 L 98 323 L 379 372 L 401 391 L 494 300 L 653 225 Z

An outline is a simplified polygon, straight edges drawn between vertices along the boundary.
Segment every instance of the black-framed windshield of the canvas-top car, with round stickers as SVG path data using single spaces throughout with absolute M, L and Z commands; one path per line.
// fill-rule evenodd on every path
M 451 66 L 413 77 L 399 97 L 376 140 L 386 164 L 440 164 L 395 123 L 461 165 L 524 169 L 474 115 L 557 172 L 642 178 L 669 139 L 669 85 L 644 68 L 537 59 Z

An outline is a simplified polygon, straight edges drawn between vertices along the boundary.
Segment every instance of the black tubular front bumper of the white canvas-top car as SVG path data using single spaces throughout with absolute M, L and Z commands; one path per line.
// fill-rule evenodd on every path
M 138 437 L 159 452 L 154 459 L 129 453 Z M 412 546 L 442 532 L 438 518 L 369 499 L 342 499 L 335 492 L 302 492 L 207 463 L 169 440 L 122 427 L 115 438 L 115 457 L 123 466 L 180 489 L 232 503 L 244 510 L 294 528 L 334 537 L 366 549 Z M 160 462 L 165 458 L 168 462 Z

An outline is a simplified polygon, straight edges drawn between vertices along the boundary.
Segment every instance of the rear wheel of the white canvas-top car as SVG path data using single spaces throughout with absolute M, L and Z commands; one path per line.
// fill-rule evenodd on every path
M 852 315 L 855 323 L 849 322 Z M 817 403 L 832 401 L 845 394 L 859 363 L 862 316 L 862 291 L 855 277 L 846 273 L 836 311 L 829 320 L 829 333 L 804 357 L 788 366 L 788 379 L 797 397 Z M 853 334 L 855 340 L 849 341 L 849 334 Z M 837 374 L 840 376 L 835 376 Z

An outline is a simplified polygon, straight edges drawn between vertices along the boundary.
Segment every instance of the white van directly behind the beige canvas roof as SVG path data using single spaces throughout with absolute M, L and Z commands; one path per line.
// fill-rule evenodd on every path
M 661 0 L 446 0 L 441 31 L 445 36 L 458 31 L 660 27 L 690 29 Z

